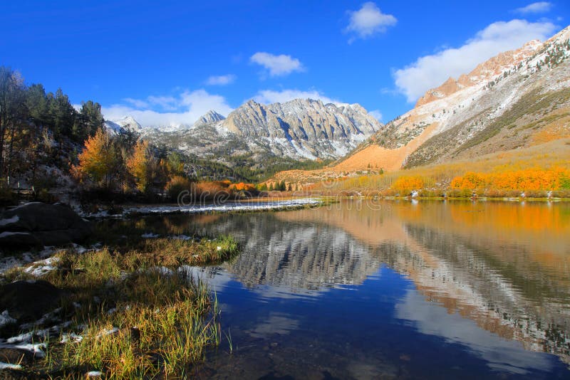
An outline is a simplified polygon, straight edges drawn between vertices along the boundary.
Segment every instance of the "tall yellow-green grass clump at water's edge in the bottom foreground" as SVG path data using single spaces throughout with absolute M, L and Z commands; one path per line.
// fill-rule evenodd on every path
M 86 322 L 81 342 L 51 351 L 51 369 L 63 375 L 99 370 L 109 379 L 180 376 L 219 344 L 217 304 L 207 287 L 182 273 L 136 277 L 117 311 L 101 310 Z

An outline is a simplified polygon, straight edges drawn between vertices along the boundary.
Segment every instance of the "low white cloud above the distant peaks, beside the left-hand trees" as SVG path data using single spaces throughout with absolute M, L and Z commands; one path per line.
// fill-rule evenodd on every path
M 130 115 L 143 126 L 156 126 L 193 124 L 209 110 L 215 110 L 222 115 L 232 112 L 232 107 L 223 96 L 209 94 L 202 89 L 185 90 L 177 96 L 149 96 L 147 100 L 140 101 L 128 98 L 125 102 L 129 104 L 103 107 L 103 117 L 106 120 L 118 120 Z M 152 110 L 152 105 L 170 112 Z

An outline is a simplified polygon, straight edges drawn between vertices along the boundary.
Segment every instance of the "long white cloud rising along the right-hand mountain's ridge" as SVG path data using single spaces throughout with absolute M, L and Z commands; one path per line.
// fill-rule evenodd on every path
M 477 64 L 502 51 L 520 48 L 533 39 L 544 40 L 556 26 L 550 22 L 530 23 L 525 20 L 492 23 L 459 48 L 447 48 L 439 53 L 418 58 L 414 63 L 394 73 L 396 88 L 408 102 L 418 100 L 430 88 L 441 85 L 450 76 L 457 78 L 469 73 Z

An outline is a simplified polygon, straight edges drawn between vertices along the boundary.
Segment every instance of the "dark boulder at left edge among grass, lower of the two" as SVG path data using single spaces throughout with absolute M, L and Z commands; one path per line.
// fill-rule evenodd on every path
M 0 287 L 0 310 L 19 324 L 35 322 L 56 309 L 63 291 L 44 280 L 19 280 Z

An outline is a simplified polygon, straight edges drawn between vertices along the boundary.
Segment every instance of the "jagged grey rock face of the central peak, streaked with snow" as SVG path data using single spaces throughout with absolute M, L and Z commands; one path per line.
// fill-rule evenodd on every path
M 270 105 L 249 100 L 221 127 L 273 152 L 316 159 L 342 157 L 382 125 L 358 104 L 295 99 Z

